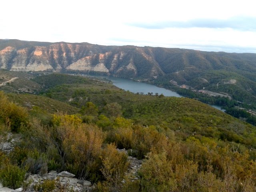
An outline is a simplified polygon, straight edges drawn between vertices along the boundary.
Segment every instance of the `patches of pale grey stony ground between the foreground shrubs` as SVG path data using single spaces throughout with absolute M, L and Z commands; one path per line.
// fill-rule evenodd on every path
M 0 143 L 0 150 L 5 152 L 10 152 L 15 143 L 18 141 L 18 138 L 12 138 L 12 134 L 8 134 L 6 138 L 6 142 Z M 126 149 L 117 149 L 119 152 L 124 152 L 128 155 L 128 151 Z M 122 183 L 130 180 L 134 182 L 139 178 L 138 170 L 141 167 L 142 160 L 138 160 L 132 156 L 128 156 L 128 162 L 130 163 L 124 180 Z M 18 189 L 10 189 L 7 187 L 3 187 L 2 183 L 0 183 L 0 192 L 32 192 L 34 191 L 34 186 L 38 184 L 42 184 L 44 181 L 55 180 L 58 187 L 62 188 L 62 191 L 75 191 L 75 192 L 90 192 L 93 188 L 95 188 L 95 184 L 92 184 L 90 181 L 79 180 L 74 178 L 75 175 L 66 171 L 62 171 L 60 173 L 56 171 L 50 171 L 44 176 L 40 176 L 38 174 L 32 175 L 29 174 L 26 180 L 26 186 Z

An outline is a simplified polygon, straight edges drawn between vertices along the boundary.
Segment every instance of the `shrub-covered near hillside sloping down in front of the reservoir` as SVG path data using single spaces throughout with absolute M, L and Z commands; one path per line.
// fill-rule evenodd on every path
M 256 190 L 255 126 L 194 99 L 132 94 L 82 76 L 8 74 L 29 90 L 16 80 L 0 87 L 0 146 L 16 141 L 0 148 L 5 186 L 30 188 L 26 172 L 55 170 L 90 181 L 91 191 Z M 72 191 L 50 178 L 34 186 L 54 189 Z

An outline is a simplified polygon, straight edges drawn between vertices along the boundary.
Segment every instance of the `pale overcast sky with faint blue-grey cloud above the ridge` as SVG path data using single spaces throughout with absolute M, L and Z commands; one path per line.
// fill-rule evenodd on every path
M 0 39 L 256 53 L 255 0 L 2 0 Z

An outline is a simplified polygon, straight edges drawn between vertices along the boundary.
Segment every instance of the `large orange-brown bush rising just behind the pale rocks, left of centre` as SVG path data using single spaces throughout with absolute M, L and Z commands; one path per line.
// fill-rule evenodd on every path
M 54 139 L 67 171 L 77 177 L 92 177 L 100 173 L 100 152 L 104 134 L 97 126 L 60 118 L 53 128 Z M 94 177 L 94 176 L 93 176 Z

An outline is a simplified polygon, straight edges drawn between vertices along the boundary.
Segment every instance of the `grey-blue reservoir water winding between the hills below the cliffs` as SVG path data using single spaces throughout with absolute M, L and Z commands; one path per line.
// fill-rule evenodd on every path
M 131 79 L 125 79 L 125 78 L 118 78 L 118 77 L 113 77 L 113 76 L 96 76 L 96 77 L 100 77 L 100 78 L 106 78 L 108 80 L 111 80 L 113 82 L 113 85 L 121 88 L 123 90 L 126 91 L 130 91 L 133 93 L 143 93 L 143 94 L 148 94 L 148 92 L 152 92 L 153 95 L 155 95 L 156 93 L 163 94 L 164 96 L 169 96 L 169 97 L 182 97 L 180 94 L 165 89 L 165 88 L 161 88 L 155 85 L 151 85 L 151 84 L 147 84 L 144 82 L 136 82 L 133 81 Z M 218 110 L 221 110 L 222 112 L 225 112 L 225 110 L 221 109 L 220 106 L 217 105 L 210 105 Z

